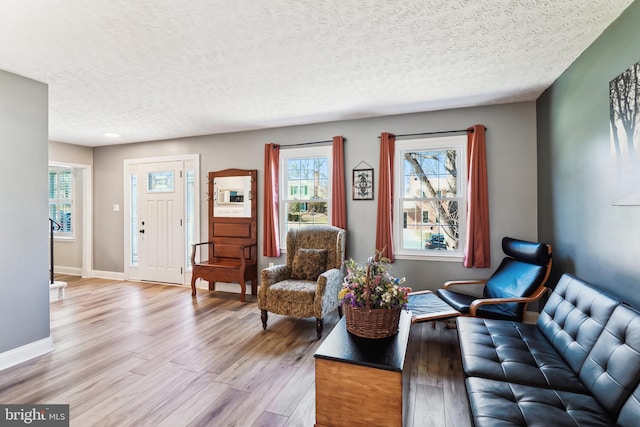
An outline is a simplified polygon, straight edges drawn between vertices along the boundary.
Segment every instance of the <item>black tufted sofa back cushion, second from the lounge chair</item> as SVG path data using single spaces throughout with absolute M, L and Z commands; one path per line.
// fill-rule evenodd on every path
M 579 374 L 602 406 L 617 414 L 640 383 L 640 313 L 616 307 Z

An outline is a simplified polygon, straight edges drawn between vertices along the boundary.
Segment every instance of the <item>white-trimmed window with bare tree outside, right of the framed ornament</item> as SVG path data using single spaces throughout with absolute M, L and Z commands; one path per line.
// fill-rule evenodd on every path
M 467 137 L 396 141 L 398 258 L 459 260 L 466 230 Z

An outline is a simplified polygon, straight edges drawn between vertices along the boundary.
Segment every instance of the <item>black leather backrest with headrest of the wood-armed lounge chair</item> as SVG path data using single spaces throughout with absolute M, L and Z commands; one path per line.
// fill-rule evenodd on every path
M 506 257 L 487 281 L 485 298 L 528 297 L 544 286 L 551 272 L 551 246 L 505 237 L 502 251 Z M 505 303 L 490 307 L 505 316 L 521 319 L 525 304 Z

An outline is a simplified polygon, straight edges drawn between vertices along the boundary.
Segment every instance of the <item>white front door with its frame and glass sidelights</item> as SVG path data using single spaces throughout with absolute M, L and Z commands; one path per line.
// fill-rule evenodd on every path
M 125 276 L 188 284 L 199 236 L 199 155 L 125 160 Z

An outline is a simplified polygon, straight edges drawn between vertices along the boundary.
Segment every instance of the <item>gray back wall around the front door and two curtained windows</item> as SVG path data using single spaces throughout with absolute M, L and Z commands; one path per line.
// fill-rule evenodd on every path
M 201 154 L 201 182 L 208 171 L 226 168 L 258 170 L 259 252 L 262 253 L 262 186 L 264 144 L 286 145 L 331 139 L 343 135 L 348 195 L 348 251 L 358 261 L 373 254 L 376 201 L 351 200 L 351 169 L 361 161 L 374 166 L 378 176 L 381 132 L 396 134 L 464 129 L 476 123 L 487 126 L 491 245 L 493 268 L 501 258 L 500 241 L 509 235 L 537 238 L 537 177 L 535 103 L 388 116 L 253 132 L 97 147 L 94 161 L 94 268 L 124 271 L 124 217 L 111 206 L 124 205 L 123 160 L 177 154 Z M 207 236 L 205 186 L 201 186 L 201 236 Z M 377 183 L 376 183 L 377 191 Z M 260 257 L 259 267 L 278 260 Z M 284 257 L 282 257 L 284 262 Z M 493 269 L 492 268 L 492 269 Z M 492 269 L 465 269 L 461 263 L 398 260 L 394 274 L 406 276 L 415 289 L 435 289 L 445 280 L 484 278 Z

